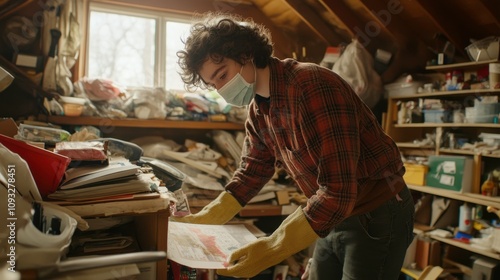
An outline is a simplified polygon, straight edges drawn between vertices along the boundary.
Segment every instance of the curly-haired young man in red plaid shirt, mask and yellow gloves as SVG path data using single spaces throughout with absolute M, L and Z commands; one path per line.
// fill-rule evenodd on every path
M 414 205 L 398 148 L 332 71 L 273 57 L 269 31 L 209 13 L 178 52 L 188 86 L 248 106 L 241 162 L 217 199 L 178 221 L 223 224 L 286 169 L 307 196 L 268 237 L 238 249 L 220 275 L 253 277 L 317 241 L 309 279 L 397 279 Z

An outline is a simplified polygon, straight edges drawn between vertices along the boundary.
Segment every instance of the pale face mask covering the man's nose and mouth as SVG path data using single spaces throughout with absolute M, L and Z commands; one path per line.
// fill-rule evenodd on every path
M 241 66 L 241 69 L 243 69 L 243 65 Z M 255 70 L 255 75 L 257 76 L 257 70 Z M 245 106 L 250 104 L 255 96 L 255 82 L 248 83 L 240 73 L 237 73 L 217 92 L 224 98 L 224 100 L 226 100 L 227 103 L 235 106 Z

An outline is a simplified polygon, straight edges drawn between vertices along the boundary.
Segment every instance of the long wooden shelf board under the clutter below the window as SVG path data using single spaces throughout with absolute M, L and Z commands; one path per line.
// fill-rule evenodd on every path
M 66 117 L 39 116 L 39 120 L 57 125 L 93 125 L 97 127 L 131 127 L 131 128 L 172 128 L 172 129 L 222 129 L 243 130 L 242 123 L 210 122 L 210 121 L 179 121 L 179 120 L 142 120 L 142 119 L 111 119 L 98 117 Z

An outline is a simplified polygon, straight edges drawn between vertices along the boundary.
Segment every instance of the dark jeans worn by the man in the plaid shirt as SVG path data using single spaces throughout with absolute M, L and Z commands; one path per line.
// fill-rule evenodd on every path
M 319 239 L 309 280 L 398 279 L 415 216 L 408 188 L 398 195 L 371 212 L 347 218 Z

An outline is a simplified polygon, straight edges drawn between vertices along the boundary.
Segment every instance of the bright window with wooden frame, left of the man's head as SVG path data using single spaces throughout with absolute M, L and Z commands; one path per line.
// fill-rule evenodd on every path
M 87 77 L 184 89 L 176 52 L 184 47 L 188 18 L 96 3 L 89 17 Z

